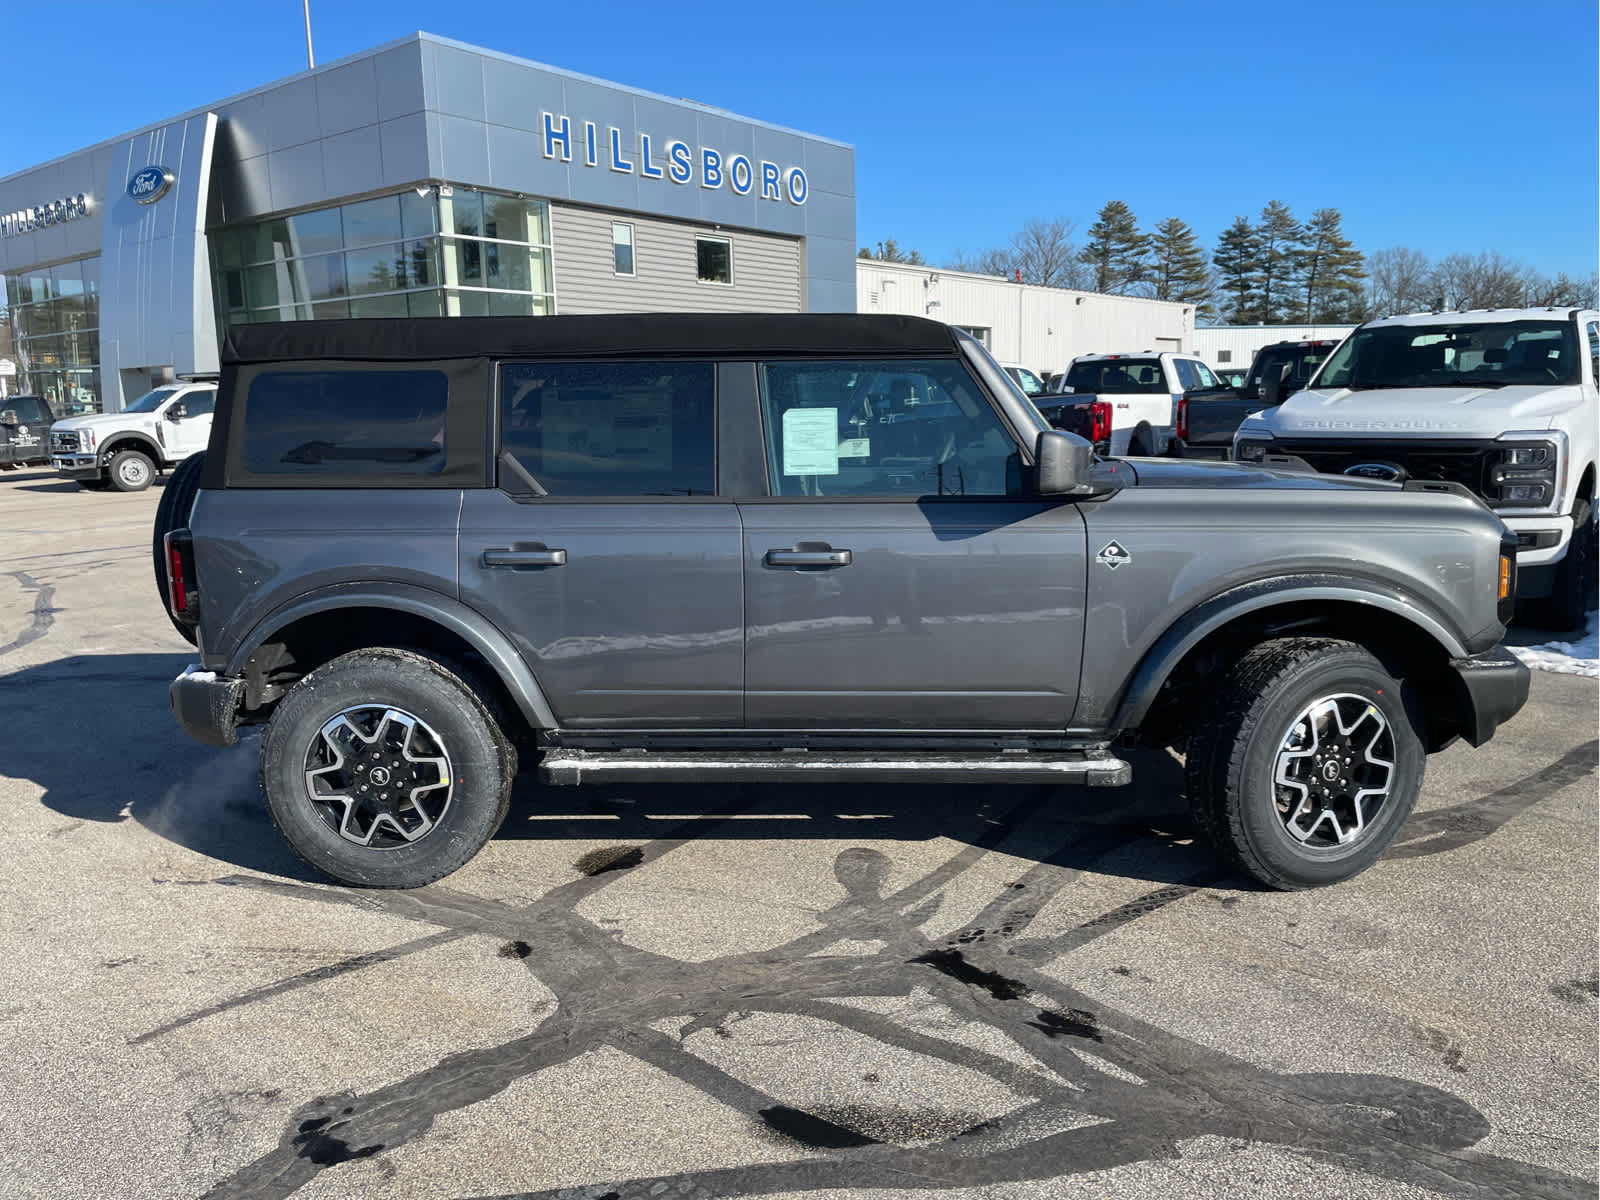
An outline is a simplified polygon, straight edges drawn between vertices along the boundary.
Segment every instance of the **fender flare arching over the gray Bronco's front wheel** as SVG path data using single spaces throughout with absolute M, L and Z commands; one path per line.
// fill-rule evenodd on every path
M 1208 634 L 1248 613 L 1304 600 L 1339 600 L 1370 605 L 1371 608 L 1410 621 L 1416 626 L 1418 634 L 1424 634 L 1435 642 L 1445 651 L 1446 658 L 1467 658 L 1470 654 L 1461 638 L 1451 632 L 1445 619 L 1430 605 L 1419 602 L 1394 584 L 1373 579 L 1352 581 L 1349 576 L 1336 574 L 1294 574 L 1258 579 L 1230 587 L 1195 605 L 1155 640 L 1128 678 L 1128 685 L 1117 701 L 1110 730 L 1117 733 L 1138 728 L 1150 712 L 1150 706 L 1155 702 L 1162 685 L 1166 683 L 1166 677 L 1182 662 L 1184 654 L 1194 650 Z

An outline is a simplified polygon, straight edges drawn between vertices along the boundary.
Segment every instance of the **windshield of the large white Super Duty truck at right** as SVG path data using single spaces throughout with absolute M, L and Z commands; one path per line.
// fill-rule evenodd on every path
M 1254 382 L 1254 379 L 1251 379 Z M 1506 387 L 1578 382 L 1571 322 L 1440 322 L 1357 330 L 1315 387 Z

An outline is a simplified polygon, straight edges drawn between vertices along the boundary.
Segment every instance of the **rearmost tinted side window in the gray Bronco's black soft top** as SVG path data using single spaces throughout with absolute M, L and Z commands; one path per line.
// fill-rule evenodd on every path
M 243 462 L 256 475 L 437 475 L 443 371 L 269 371 L 250 384 Z

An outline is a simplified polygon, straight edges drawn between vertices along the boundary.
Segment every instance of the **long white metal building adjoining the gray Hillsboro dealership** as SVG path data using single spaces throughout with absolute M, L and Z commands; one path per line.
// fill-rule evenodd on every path
M 1192 350 L 1192 304 L 1011 283 L 944 267 L 856 259 L 856 312 L 933 317 L 995 358 L 1048 374 L 1080 354 Z

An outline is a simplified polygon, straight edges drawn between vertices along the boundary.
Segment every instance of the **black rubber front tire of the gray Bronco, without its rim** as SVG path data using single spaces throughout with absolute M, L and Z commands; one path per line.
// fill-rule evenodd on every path
M 1326 696 L 1371 704 L 1392 738 L 1389 794 L 1349 843 L 1296 840 L 1274 782 L 1298 715 Z M 1216 717 L 1189 739 L 1184 776 L 1195 824 L 1216 851 L 1251 878 L 1282 891 L 1318 888 L 1357 875 L 1394 842 L 1422 789 L 1421 712 L 1366 650 L 1338 638 L 1266 642 L 1227 672 Z

